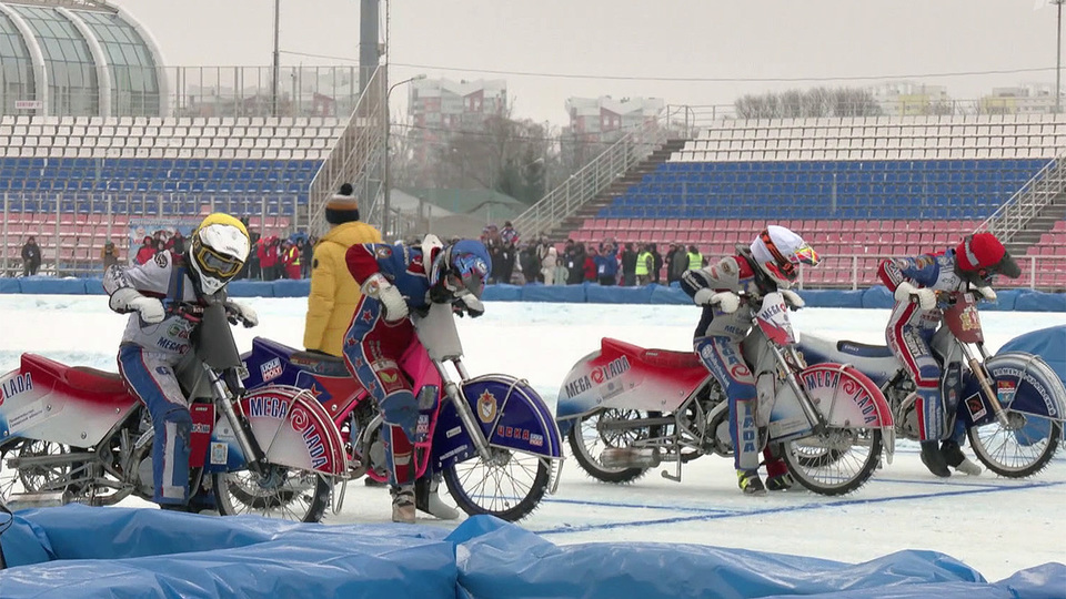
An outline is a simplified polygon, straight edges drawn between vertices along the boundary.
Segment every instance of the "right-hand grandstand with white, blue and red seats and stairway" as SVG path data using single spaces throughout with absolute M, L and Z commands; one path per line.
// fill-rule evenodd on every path
M 884 257 L 989 229 L 1022 256 L 1023 277 L 1000 285 L 1066 288 L 1062 114 L 717 119 L 675 134 L 634 131 L 515 225 L 717 256 L 780 223 L 825 257 L 804 286 L 844 288 L 875 284 Z

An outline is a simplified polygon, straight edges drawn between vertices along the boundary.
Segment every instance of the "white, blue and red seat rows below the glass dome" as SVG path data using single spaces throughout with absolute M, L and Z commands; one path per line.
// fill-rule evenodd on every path
M 0 251 L 10 268 L 34 235 L 46 268 L 57 242 L 63 265 L 86 266 L 99 263 L 108 238 L 124 256 L 131 216 L 215 210 L 284 234 L 344 126 L 323 118 L 0 116 Z

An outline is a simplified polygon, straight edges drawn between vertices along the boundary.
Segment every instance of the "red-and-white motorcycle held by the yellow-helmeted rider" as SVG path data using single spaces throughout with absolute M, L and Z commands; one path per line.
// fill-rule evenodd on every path
M 329 414 L 301 389 L 247 390 L 222 304 L 168 306 L 200 321 L 175 368 L 191 400 L 190 488 L 219 514 L 318 521 L 348 469 Z M 23 354 L 0 377 L 0 498 L 17 505 L 152 500 L 148 409 L 118 374 Z

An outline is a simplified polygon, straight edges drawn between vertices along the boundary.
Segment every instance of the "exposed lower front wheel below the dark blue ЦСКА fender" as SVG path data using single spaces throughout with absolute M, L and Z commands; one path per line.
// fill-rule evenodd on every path
M 507 521 L 529 516 L 547 491 L 551 460 L 500 447 L 487 461 L 474 456 L 444 469 L 447 491 L 471 516 L 489 514 Z

